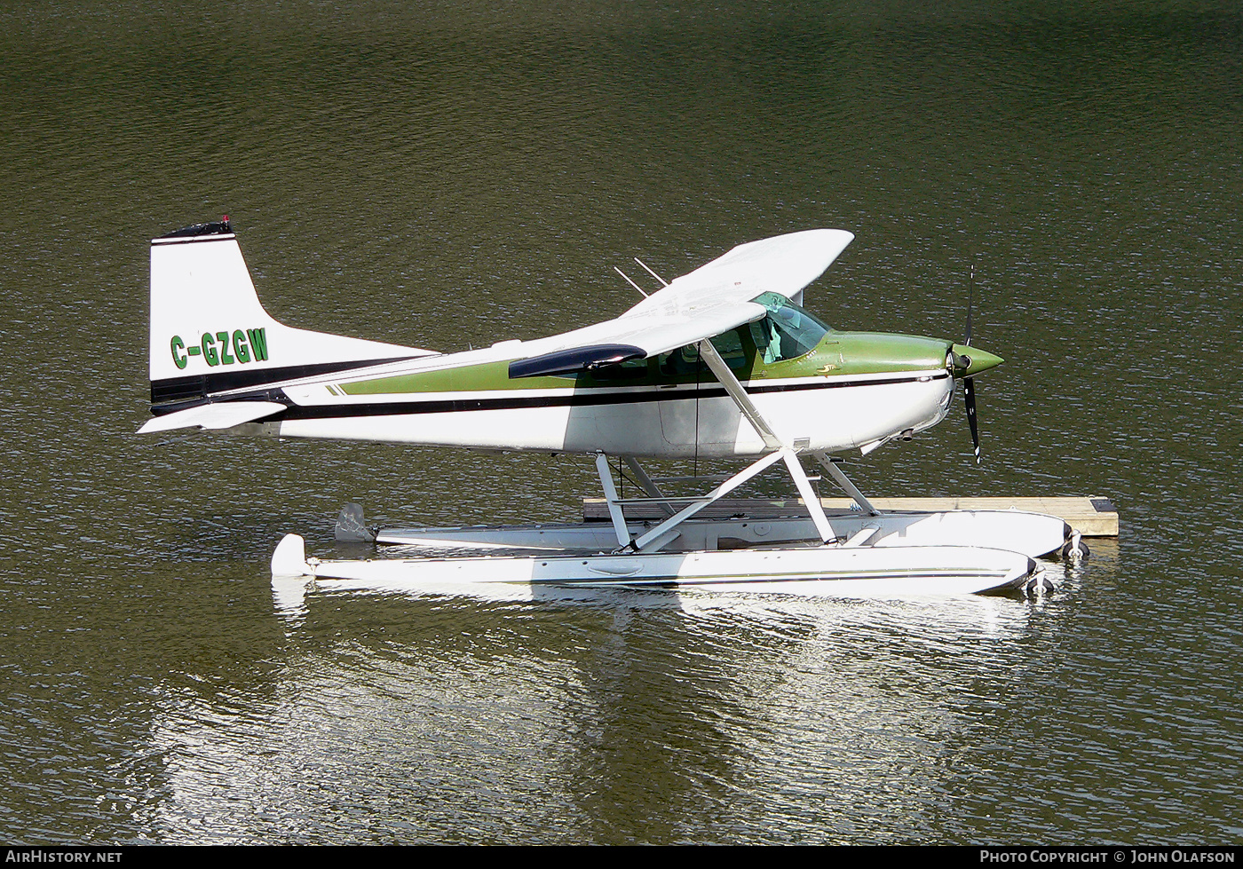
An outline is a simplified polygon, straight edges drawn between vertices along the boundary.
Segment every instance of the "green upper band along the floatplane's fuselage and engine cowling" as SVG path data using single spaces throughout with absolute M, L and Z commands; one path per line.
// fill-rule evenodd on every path
M 726 357 L 742 382 L 842 377 L 885 372 L 929 370 L 945 367 L 951 342 L 909 334 L 875 332 L 829 332 L 810 353 L 781 362 L 764 362 L 750 339 L 743 354 Z M 687 361 L 690 356 L 690 361 Z M 682 351 L 651 359 L 609 366 L 594 372 L 557 377 L 510 378 L 510 359 L 475 366 L 441 368 L 342 383 L 347 395 L 394 395 L 410 393 L 457 393 L 522 389 L 617 389 L 658 387 L 713 380 L 706 366 L 696 366 L 694 354 Z M 696 368 L 699 370 L 696 370 Z

